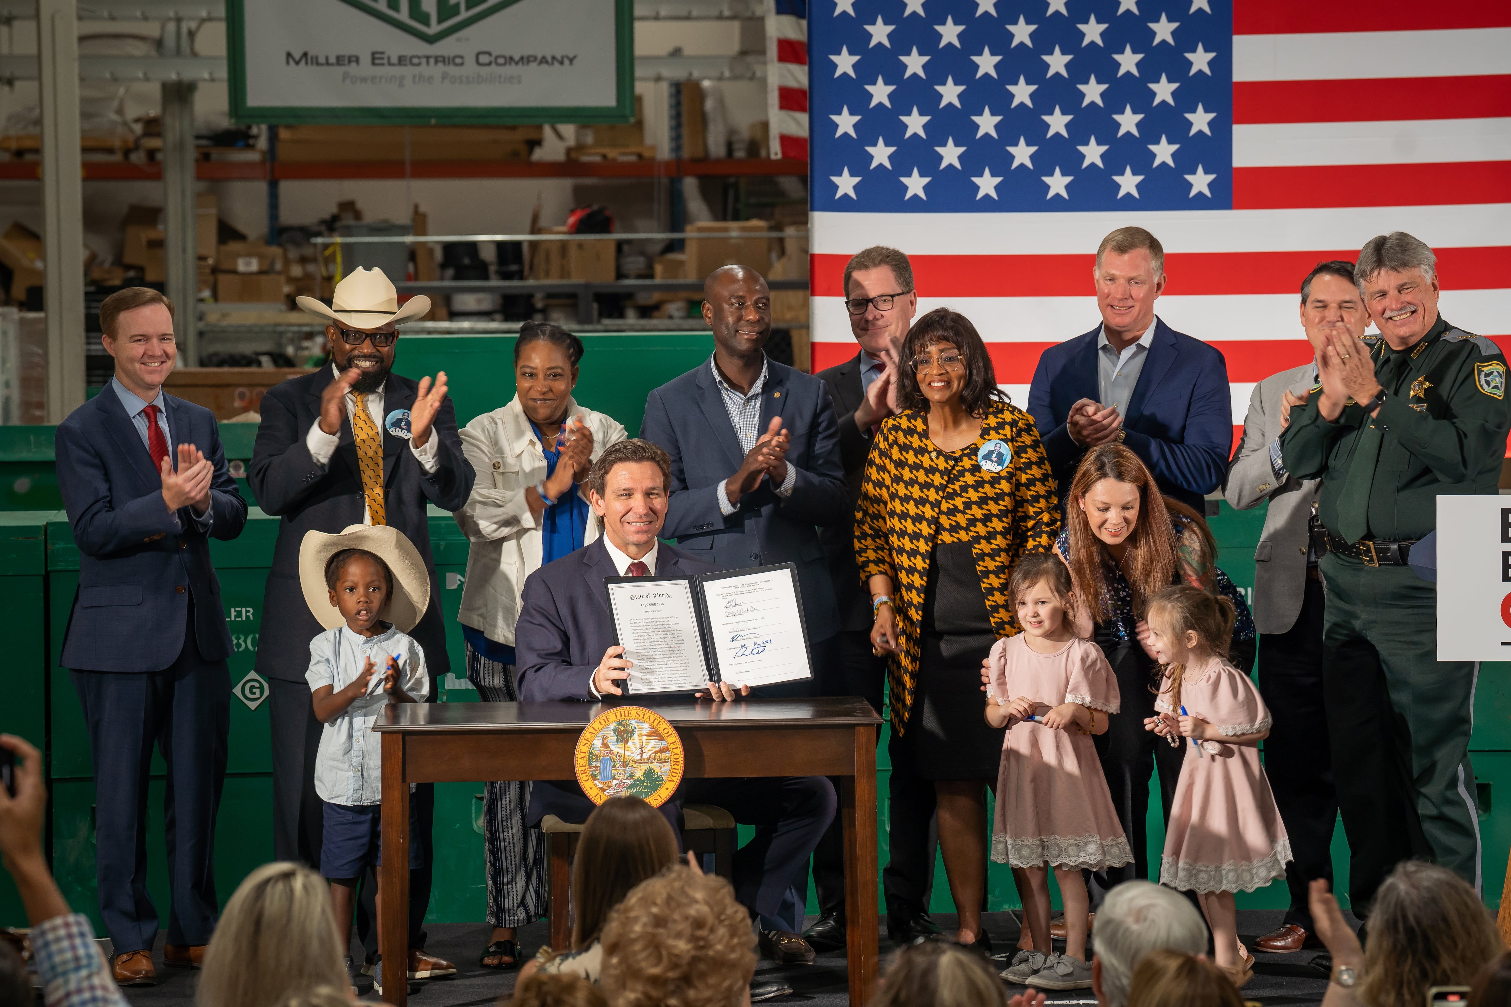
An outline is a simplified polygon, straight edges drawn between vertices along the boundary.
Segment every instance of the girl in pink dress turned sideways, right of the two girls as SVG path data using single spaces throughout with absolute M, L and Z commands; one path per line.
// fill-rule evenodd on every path
M 1284 877 L 1292 858 L 1259 762 L 1269 710 L 1225 657 L 1233 617 L 1231 601 L 1189 584 L 1148 599 L 1148 648 L 1165 666 L 1165 679 L 1156 716 L 1144 726 L 1186 746 L 1159 883 L 1197 892 L 1213 957 L 1242 986 L 1254 975 L 1254 956 L 1238 939 L 1233 892 Z

